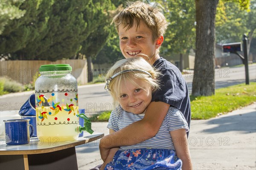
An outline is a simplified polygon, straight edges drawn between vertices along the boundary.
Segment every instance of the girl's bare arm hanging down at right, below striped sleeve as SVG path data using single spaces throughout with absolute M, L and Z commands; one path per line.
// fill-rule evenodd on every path
M 185 129 L 173 130 L 170 132 L 177 157 L 182 161 L 183 170 L 192 170 L 188 140 Z

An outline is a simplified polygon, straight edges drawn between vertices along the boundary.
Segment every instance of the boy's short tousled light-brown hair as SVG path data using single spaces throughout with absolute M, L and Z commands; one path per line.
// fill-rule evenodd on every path
M 165 33 L 168 23 L 162 13 L 162 6 L 160 6 L 160 4 L 154 3 L 154 5 L 150 5 L 136 1 L 128 5 L 127 8 L 120 11 L 119 14 L 113 18 L 112 23 L 115 24 L 117 32 L 119 32 L 119 26 L 121 24 L 129 29 L 134 23 L 138 27 L 140 21 L 143 21 L 152 31 L 153 42 L 157 40 L 160 35 Z

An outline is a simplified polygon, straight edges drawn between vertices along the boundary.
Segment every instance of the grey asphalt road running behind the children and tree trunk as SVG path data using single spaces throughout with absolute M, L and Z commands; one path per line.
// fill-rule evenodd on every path
M 237 68 L 218 68 L 215 69 L 215 88 L 223 88 L 245 82 L 244 66 Z M 192 81 L 194 73 L 187 70 L 188 74 L 183 74 L 189 92 L 192 91 Z M 256 82 L 256 64 L 249 65 L 250 82 Z M 87 114 L 100 111 L 112 110 L 112 99 L 107 91 L 104 90 L 105 84 L 82 85 L 79 86 L 79 108 L 86 108 Z M 34 91 L 23 93 L 7 94 L 0 96 L 0 111 L 16 111 L 28 99 Z

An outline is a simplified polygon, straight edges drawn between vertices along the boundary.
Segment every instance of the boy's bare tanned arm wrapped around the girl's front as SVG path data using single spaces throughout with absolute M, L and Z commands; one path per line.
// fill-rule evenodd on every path
M 154 137 L 169 107 L 170 105 L 164 102 L 151 102 L 142 120 L 104 136 L 99 144 L 102 160 L 107 158 L 109 149 L 112 147 L 133 145 Z

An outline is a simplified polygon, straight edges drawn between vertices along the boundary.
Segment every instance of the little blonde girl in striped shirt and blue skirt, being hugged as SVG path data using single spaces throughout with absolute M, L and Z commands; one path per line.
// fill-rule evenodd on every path
M 152 92 L 160 88 L 160 75 L 145 59 L 135 57 L 116 62 L 108 71 L 106 87 L 119 106 L 112 111 L 108 128 L 110 133 L 143 119 L 152 99 Z M 131 146 L 112 148 L 102 165 L 105 170 L 192 169 L 186 132 L 189 131 L 183 114 L 172 106 L 151 139 L 134 139 Z M 128 139 L 128 138 L 127 138 Z M 122 139 L 122 142 L 127 142 Z M 103 141 L 104 142 L 104 141 Z M 114 156 L 113 156 L 114 155 Z M 113 158 L 113 159 L 112 159 Z

